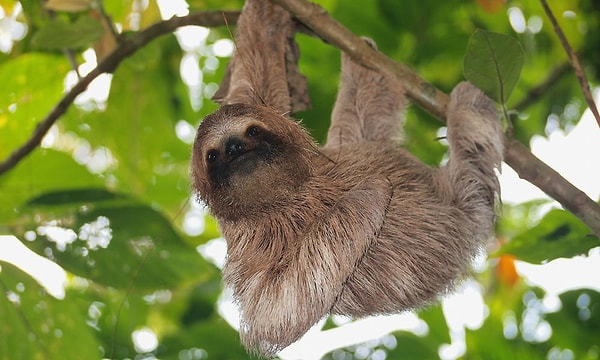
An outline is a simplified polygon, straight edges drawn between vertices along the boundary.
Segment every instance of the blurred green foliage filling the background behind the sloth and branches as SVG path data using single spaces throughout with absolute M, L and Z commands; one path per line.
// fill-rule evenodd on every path
M 191 11 L 243 5 L 241 0 L 187 3 Z M 567 60 L 537 0 L 319 3 L 445 91 L 462 80 L 467 43 L 476 29 L 518 40 L 524 67 L 507 107 L 519 106 L 514 134 L 524 144 L 547 129 L 572 128 L 584 110 L 570 70 L 558 72 L 533 101 L 519 105 Z M 73 63 L 85 63 L 82 74 L 94 66 L 89 49 L 98 50 L 95 41 L 110 36 L 99 26 L 102 11 L 115 29 L 127 33 L 160 20 L 154 0 L 106 0 L 101 6 L 52 1 L 53 9 L 65 11 L 49 11 L 43 4 L 0 0 L 0 159 L 31 135 L 76 81 Z M 599 3 L 554 0 L 550 6 L 597 84 Z M 216 109 L 209 98 L 227 61 L 215 44 L 229 39 L 229 30 L 233 26 L 196 35 L 191 47 L 180 46 L 175 36 L 146 44 L 114 74 L 92 84 L 96 91 L 77 99 L 41 148 L 0 175 L 0 235 L 16 236 L 65 269 L 68 278 L 64 298 L 57 299 L 21 269 L 0 263 L 0 359 L 249 358 L 236 331 L 216 311 L 220 274 L 195 247 L 219 234 L 214 220 L 192 204 L 188 180 L 194 129 Z M 313 102 L 297 116 L 323 141 L 339 52 L 306 35 L 297 40 Z M 190 63 L 197 65 L 191 71 L 195 77 L 184 78 L 182 69 L 189 72 Z M 109 93 L 102 83 L 110 84 Z M 549 116 L 558 122 L 548 125 Z M 438 140 L 440 126 L 418 108 L 407 113 L 405 145 L 431 165 L 446 152 Z M 528 286 L 515 271 L 517 260 L 542 263 L 585 255 L 599 245 L 573 215 L 547 207 L 543 200 L 504 205 L 497 250 L 486 269 L 474 274 L 483 289 L 484 321 L 466 330 L 466 348 L 457 356 L 600 358 L 600 294 L 573 290 L 548 307 L 555 295 Z M 398 331 L 325 358 L 437 358 L 455 341 L 456 330 L 439 305 L 418 315 L 426 324 L 423 333 Z M 335 325 L 328 321 L 329 327 Z M 156 346 L 144 349 L 133 341 L 140 329 L 156 335 Z

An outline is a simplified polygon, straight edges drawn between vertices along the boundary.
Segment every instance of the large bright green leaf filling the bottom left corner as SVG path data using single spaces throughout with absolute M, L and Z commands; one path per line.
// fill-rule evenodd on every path
M 20 269 L 0 263 L 0 359 L 97 359 L 85 307 L 57 300 Z

